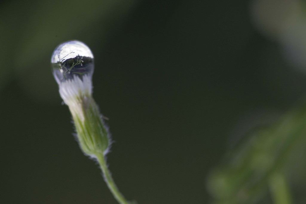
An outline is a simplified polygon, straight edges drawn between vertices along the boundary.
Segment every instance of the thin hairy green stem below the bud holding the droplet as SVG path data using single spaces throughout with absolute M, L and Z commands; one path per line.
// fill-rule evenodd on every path
M 129 204 L 129 202 L 124 198 L 124 196 L 120 193 L 118 187 L 116 186 L 114 179 L 110 173 L 110 170 L 107 167 L 103 153 L 97 153 L 96 156 L 102 169 L 104 180 L 108 188 L 110 189 L 110 192 L 114 195 L 114 197 L 120 204 Z

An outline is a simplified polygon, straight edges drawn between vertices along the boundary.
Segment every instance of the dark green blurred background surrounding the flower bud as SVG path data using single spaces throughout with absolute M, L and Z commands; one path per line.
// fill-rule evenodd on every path
M 210 201 L 207 175 L 237 135 L 306 91 L 306 25 L 290 2 L 2 1 L 0 202 L 116 203 L 50 71 L 54 48 L 73 39 L 95 55 L 121 192 L 140 204 Z

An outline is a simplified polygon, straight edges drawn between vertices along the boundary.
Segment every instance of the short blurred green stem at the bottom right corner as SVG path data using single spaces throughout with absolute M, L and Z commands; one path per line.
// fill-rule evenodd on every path
M 275 204 L 292 204 L 292 198 L 285 176 L 275 172 L 269 178 L 269 187 Z

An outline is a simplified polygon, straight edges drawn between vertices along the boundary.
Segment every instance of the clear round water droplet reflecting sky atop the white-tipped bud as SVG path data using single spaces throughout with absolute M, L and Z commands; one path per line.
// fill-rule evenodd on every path
M 60 44 L 51 57 L 52 73 L 60 84 L 63 81 L 94 72 L 94 56 L 87 45 L 73 40 Z

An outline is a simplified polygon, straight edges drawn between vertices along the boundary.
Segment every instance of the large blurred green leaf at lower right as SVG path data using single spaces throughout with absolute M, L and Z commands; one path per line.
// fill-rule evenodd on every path
M 271 127 L 253 131 L 228 153 L 208 178 L 215 203 L 255 203 L 267 193 L 271 177 L 284 172 L 288 158 L 305 142 L 305 107 L 289 111 Z

